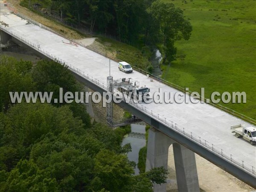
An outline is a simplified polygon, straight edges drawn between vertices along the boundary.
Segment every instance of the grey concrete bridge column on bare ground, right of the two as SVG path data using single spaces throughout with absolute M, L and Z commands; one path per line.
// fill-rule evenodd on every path
M 195 153 L 178 143 L 173 144 L 173 154 L 179 192 L 200 192 Z

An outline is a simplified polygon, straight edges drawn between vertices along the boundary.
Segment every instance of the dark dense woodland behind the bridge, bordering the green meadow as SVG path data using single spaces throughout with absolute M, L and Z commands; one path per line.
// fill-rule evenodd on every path
M 93 34 L 112 35 L 141 48 L 160 49 L 163 63 L 175 60 L 174 42 L 188 40 L 192 26 L 173 3 L 159 0 L 23 0 L 21 5 Z M 55 17 L 56 18 L 56 17 Z

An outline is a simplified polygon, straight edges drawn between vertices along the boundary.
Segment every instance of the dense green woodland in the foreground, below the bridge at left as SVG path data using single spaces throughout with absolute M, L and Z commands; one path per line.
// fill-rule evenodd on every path
M 150 192 L 165 182 L 163 168 L 134 175 L 131 145 L 120 146 L 129 127 L 91 123 L 75 102 L 11 103 L 9 91 L 82 91 L 67 67 L 1 56 L 0 79 L 1 192 Z

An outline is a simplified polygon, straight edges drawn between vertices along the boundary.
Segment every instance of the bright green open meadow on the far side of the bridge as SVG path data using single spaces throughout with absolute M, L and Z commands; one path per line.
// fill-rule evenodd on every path
M 256 119 L 256 1 L 170 2 L 191 19 L 193 32 L 176 43 L 181 58 L 162 66 L 163 78 L 191 91 L 205 87 L 208 98 L 245 91 L 246 104 L 221 105 Z

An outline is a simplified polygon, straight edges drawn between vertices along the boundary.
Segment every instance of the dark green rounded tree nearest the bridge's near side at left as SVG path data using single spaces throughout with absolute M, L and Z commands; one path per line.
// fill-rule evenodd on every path
M 59 98 L 60 88 L 63 89 L 63 96 L 67 91 L 75 94 L 75 92 L 82 90 L 82 86 L 76 81 L 68 67 L 54 61 L 39 61 L 32 70 L 32 77 L 36 83 L 37 90 L 48 93 L 53 92 L 53 98 Z M 61 106 L 66 103 L 64 100 L 63 103 L 54 103 L 54 99 L 52 99 L 52 104 Z M 84 126 L 90 128 L 90 116 L 86 112 L 86 106 L 76 102 L 68 105 L 73 112 L 73 116 L 81 118 Z

